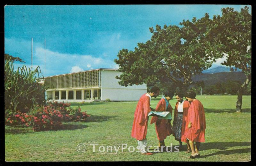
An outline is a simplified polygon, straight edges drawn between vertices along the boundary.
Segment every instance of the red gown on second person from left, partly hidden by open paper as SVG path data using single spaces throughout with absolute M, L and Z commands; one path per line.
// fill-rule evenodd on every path
M 156 111 L 169 111 L 172 114 L 172 106 L 169 104 L 168 109 L 166 110 L 166 102 L 162 98 L 158 104 L 156 105 Z M 158 117 L 152 117 L 150 124 L 155 123 L 158 120 Z M 171 135 L 173 133 L 172 131 L 172 124 L 169 122 L 168 119 L 161 119 L 161 122 L 159 125 L 156 125 L 156 135 L 158 140 L 164 140 L 167 136 Z

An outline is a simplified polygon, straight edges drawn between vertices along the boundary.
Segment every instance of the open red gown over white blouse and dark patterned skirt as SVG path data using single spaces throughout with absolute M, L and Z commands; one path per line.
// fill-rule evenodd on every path
M 177 116 L 178 116 L 178 106 L 179 106 L 179 102 L 176 102 L 176 105 L 174 108 L 174 120 L 176 120 Z M 185 100 L 183 103 L 183 118 L 182 118 L 182 126 L 181 126 L 181 141 L 182 142 L 186 142 L 185 129 L 187 128 L 188 123 L 189 123 L 189 121 L 188 121 L 189 107 L 190 107 L 190 103 Z

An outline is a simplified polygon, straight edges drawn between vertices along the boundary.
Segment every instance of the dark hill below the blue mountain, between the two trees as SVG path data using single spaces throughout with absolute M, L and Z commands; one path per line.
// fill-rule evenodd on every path
M 243 83 L 245 79 L 246 77 L 242 72 L 217 72 L 213 74 L 202 73 L 200 75 L 192 77 L 192 80 L 194 82 L 204 81 L 205 86 L 214 85 L 217 82 L 227 82 L 228 80 L 240 81 L 241 83 Z

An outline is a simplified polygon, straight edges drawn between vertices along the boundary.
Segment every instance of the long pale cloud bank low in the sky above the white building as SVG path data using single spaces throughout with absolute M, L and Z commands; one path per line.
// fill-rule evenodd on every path
M 120 36 L 120 34 L 115 34 L 108 38 L 108 40 L 115 39 L 115 41 L 117 41 Z M 79 70 L 83 71 L 83 69 L 92 70 L 99 68 L 119 68 L 119 66 L 114 63 L 113 59 L 111 59 L 111 57 L 113 57 L 115 54 L 111 53 L 111 51 L 109 52 L 109 50 L 116 48 L 117 45 L 119 45 L 118 47 L 121 47 L 121 45 L 119 42 L 113 42 L 112 44 L 111 47 L 106 48 L 106 51 L 103 51 L 104 54 L 102 56 L 93 57 L 92 55 L 84 54 L 60 53 L 57 51 L 44 49 L 43 44 L 33 42 L 33 66 L 35 66 L 35 64 L 36 66 L 39 65 L 44 77 L 78 72 Z M 9 53 L 12 56 L 18 56 L 22 60 L 26 61 L 26 63 L 15 62 L 15 69 L 23 64 L 25 64 L 27 67 L 31 66 L 31 41 L 20 40 L 17 38 L 5 38 L 5 49 L 5 53 Z M 116 50 L 116 52 L 118 52 L 118 50 Z M 77 66 L 77 68 L 74 68 L 75 66 Z

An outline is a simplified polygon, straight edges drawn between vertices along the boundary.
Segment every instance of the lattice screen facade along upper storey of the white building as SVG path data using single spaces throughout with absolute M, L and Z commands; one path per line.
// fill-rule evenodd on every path
M 59 76 L 46 77 L 45 85 L 48 90 L 100 87 L 100 70 L 71 73 Z

